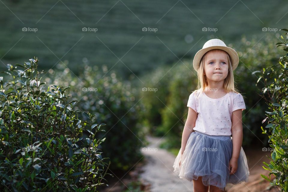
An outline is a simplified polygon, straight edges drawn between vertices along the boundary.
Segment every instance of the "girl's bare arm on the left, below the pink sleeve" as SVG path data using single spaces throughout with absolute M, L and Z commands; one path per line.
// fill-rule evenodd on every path
M 182 133 L 181 154 L 183 154 L 185 150 L 189 135 L 194 131 L 193 128 L 195 127 L 197 115 L 198 113 L 196 113 L 196 111 L 188 107 L 188 116 Z

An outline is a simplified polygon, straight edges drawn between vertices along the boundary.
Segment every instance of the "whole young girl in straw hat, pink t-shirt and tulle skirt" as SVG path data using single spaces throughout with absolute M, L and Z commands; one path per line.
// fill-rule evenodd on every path
M 242 148 L 244 99 L 234 88 L 237 52 L 220 39 L 207 41 L 194 59 L 198 89 L 187 103 L 182 143 L 173 164 L 180 179 L 193 180 L 195 192 L 225 191 L 227 183 L 248 182 Z M 231 137 L 232 134 L 232 137 Z

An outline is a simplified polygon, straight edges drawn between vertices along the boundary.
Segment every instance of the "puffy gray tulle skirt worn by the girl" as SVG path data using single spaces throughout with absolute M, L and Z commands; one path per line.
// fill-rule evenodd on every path
M 221 190 L 227 183 L 237 184 L 248 182 L 249 169 L 243 148 L 238 158 L 238 168 L 230 175 L 229 161 L 232 157 L 232 139 L 230 136 L 211 136 L 193 131 L 182 155 L 181 148 L 173 164 L 174 172 L 179 173 L 180 179 L 192 182 L 202 176 L 205 186 L 213 185 Z

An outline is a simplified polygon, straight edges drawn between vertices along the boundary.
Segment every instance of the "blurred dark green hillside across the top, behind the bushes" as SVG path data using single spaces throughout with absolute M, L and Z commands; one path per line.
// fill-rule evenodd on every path
M 125 78 L 138 77 L 193 58 L 207 39 L 237 43 L 242 34 L 248 39 L 264 35 L 263 27 L 279 30 L 285 2 L 3 0 L 0 59 L 22 63 L 38 55 L 46 70 L 67 60 L 65 65 L 78 74 L 84 61 L 113 67 Z M 203 32 L 203 27 L 217 31 Z

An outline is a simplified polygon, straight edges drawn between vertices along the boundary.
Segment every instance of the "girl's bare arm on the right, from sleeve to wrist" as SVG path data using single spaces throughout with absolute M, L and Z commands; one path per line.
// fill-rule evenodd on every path
M 232 112 L 232 158 L 238 160 L 243 140 L 243 127 L 242 127 L 242 109 Z

